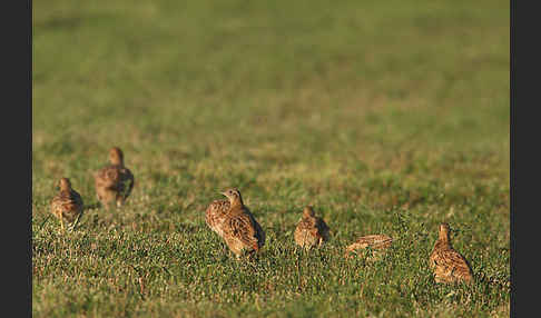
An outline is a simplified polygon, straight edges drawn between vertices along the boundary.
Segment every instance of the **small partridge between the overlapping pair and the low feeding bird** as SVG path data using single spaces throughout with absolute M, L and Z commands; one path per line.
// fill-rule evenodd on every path
M 295 242 L 304 248 L 321 247 L 328 240 L 329 228 L 322 218 L 315 216 L 314 209 L 307 206 L 303 210 L 303 217 L 295 228 Z

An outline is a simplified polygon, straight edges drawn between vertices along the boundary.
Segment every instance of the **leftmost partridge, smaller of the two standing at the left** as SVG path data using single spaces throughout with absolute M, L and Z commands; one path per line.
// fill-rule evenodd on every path
M 65 222 L 75 229 L 82 216 L 82 198 L 71 188 L 68 178 L 61 178 L 58 186 L 60 191 L 51 200 L 51 213 L 60 220 L 62 230 Z

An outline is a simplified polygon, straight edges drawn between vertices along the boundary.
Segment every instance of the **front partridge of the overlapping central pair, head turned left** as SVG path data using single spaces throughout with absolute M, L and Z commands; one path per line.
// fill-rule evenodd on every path
M 222 195 L 229 199 L 229 209 L 222 223 L 226 245 L 237 257 L 244 252 L 258 252 L 265 244 L 265 231 L 244 205 L 240 191 L 228 189 Z

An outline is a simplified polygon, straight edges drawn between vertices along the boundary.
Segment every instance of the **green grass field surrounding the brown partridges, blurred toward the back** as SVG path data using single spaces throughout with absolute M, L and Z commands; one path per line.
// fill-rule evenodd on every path
M 509 316 L 509 2 L 32 4 L 35 317 Z M 106 212 L 112 146 L 136 188 Z M 88 207 L 67 235 L 60 177 Z M 205 225 L 227 187 L 267 233 L 257 261 Z M 304 252 L 308 203 L 332 240 Z M 472 286 L 431 277 L 442 221 Z M 343 258 L 380 232 L 382 260 Z

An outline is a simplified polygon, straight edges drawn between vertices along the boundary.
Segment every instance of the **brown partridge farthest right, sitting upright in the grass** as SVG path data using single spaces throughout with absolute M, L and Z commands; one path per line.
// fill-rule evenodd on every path
M 473 274 L 468 260 L 451 246 L 451 228 L 440 225 L 440 233 L 429 259 L 436 282 L 471 282 Z

